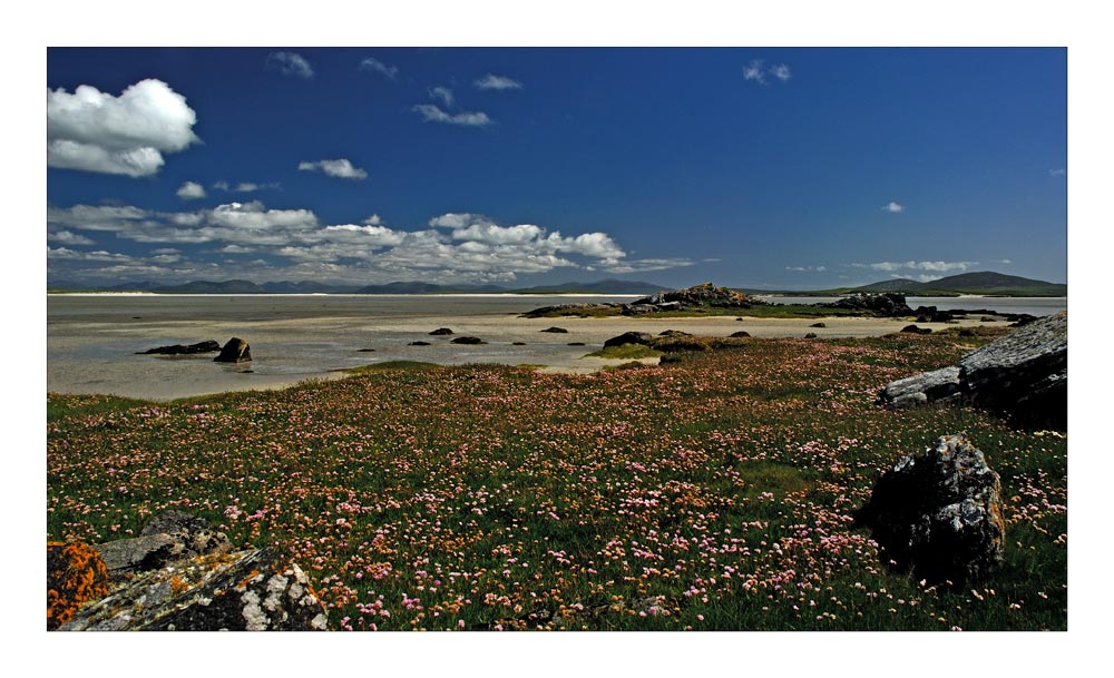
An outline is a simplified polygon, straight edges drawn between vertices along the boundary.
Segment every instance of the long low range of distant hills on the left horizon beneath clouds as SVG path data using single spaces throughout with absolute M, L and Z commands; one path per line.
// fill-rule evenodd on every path
M 402 282 L 385 285 L 331 285 L 328 283 L 283 281 L 280 283 L 252 283 L 251 281 L 193 281 L 182 285 L 162 285 L 144 281 L 123 283 L 110 287 L 90 286 L 71 281 L 53 281 L 49 292 L 154 292 L 157 294 L 641 294 L 649 295 L 668 289 L 662 285 L 638 281 L 606 279 L 595 283 L 563 283 L 535 287 L 501 287 L 499 285 L 437 285 L 433 283 Z

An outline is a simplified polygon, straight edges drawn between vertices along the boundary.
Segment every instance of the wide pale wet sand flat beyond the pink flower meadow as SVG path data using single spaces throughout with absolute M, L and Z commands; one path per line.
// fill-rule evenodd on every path
M 823 322 L 825 327 L 810 327 Z M 342 370 L 408 360 L 442 365 L 499 363 L 539 365 L 546 372 L 590 373 L 629 360 L 586 357 L 624 332 L 659 334 L 678 330 L 700 336 L 729 336 L 745 331 L 752 337 L 864 337 L 898 332 L 907 320 L 825 317 L 753 318 L 522 318 L 517 313 L 411 315 L 391 318 L 300 317 L 255 320 L 160 320 L 116 323 L 56 323 L 48 327 L 47 386 L 60 393 L 110 393 L 149 400 L 174 400 L 227 391 L 281 389 L 305 380 L 345 376 Z M 1004 325 L 971 317 L 957 323 L 919 323 L 934 331 L 955 326 Z M 567 333 L 546 333 L 551 326 Z M 453 334 L 430 336 L 438 327 Z M 199 356 L 134 355 L 159 345 L 221 343 L 238 336 L 252 346 L 254 361 L 240 365 L 213 363 Z M 486 344 L 461 345 L 451 340 L 477 336 Z M 410 342 L 428 342 L 412 346 Z M 520 342 L 524 345 L 515 345 Z M 569 346 L 569 343 L 583 346 Z M 647 361 L 656 362 L 656 361 Z

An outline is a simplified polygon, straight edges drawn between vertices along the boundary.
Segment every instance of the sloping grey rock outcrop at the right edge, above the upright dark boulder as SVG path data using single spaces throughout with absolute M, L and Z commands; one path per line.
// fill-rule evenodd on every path
M 902 410 L 970 402 L 1023 426 L 1067 428 L 1067 312 L 1028 323 L 974 351 L 957 367 L 901 379 L 879 393 Z

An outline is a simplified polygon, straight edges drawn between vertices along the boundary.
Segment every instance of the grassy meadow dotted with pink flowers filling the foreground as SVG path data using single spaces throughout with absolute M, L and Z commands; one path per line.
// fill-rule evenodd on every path
M 959 337 L 741 340 L 592 375 L 399 364 L 154 404 L 48 396 L 48 538 L 177 508 L 277 542 L 336 629 L 1064 629 L 1067 444 L 965 409 L 887 412 Z M 850 514 L 966 431 L 1006 563 L 974 589 L 880 562 Z

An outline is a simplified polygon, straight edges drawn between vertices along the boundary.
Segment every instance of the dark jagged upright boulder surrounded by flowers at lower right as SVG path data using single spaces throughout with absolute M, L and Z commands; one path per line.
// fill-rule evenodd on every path
M 964 434 L 905 456 L 857 512 L 883 560 L 932 582 L 964 586 L 1001 563 L 1006 525 L 998 474 Z

